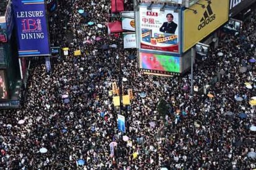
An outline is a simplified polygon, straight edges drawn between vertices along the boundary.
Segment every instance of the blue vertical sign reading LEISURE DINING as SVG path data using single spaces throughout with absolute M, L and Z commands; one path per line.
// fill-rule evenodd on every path
M 13 0 L 19 57 L 50 55 L 44 0 Z

